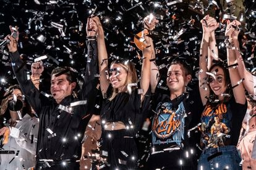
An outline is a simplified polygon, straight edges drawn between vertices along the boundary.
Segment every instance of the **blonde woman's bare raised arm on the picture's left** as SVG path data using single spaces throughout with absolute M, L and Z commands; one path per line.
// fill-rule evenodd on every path
M 108 74 L 108 52 L 106 51 L 104 30 L 101 25 L 100 18 L 93 17 L 93 20 L 96 22 L 96 25 L 98 26 L 97 46 L 98 46 L 98 63 L 99 63 L 99 71 L 100 71 L 100 88 L 104 97 L 109 86 L 109 80 L 107 75 Z

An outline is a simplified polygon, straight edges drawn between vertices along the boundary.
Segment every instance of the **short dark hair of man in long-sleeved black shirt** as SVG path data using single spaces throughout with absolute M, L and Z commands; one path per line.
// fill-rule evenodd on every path
M 75 76 L 74 71 L 70 70 L 69 67 L 56 67 L 51 71 L 51 76 L 55 75 L 60 76 L 60 75 L 66 75 L 67 76 L 67 81 L 69 83 L 77 83 L 77 78 Z

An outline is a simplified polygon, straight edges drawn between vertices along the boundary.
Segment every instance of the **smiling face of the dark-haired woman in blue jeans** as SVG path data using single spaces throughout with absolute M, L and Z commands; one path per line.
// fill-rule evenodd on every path
M 210 71 L 213 72 L 215 70 L 218 71 L 216 71 L 215 78 L 209 78 L 209 85 L 214 94 L 218 97 L 221 97 L 221 94 L 224 94 L 226 92 L 228 86 L 226 86 L 226 78 L 223 68 L 221 68 L 220 66 L 216 66 L 213 67 Z

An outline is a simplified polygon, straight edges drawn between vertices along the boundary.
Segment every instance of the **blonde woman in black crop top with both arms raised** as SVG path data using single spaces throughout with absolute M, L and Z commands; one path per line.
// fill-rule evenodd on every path
M 104 31 L 99 18 L 94 18 L 98 26 L 98 62 L 100 88 L 103 94 L 101 109 L 102 156 L 107 158 L 103 169 L 137 168 L 137 148 L 135 134 L 142 126 L 150 107 L 150 59 L 151 51 L 143 49 L 142 72 L 138 84 L 134 64 L 129 60 L 116 59 L 108 68 L 108 54 Z M 153 30 L 156 19 L 144 18 L 145 30 Z M 145 36 L 149 46 L 150 38 Z M 139 87 L 137 87 L 139 86 Z

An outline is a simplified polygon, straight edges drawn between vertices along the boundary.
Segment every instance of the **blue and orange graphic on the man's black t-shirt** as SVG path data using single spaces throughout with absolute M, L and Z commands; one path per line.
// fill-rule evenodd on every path
M 184 116 L 185 108 L 183 102 L 177 110 L 173 110 L 172 103 L 161 103 L 156 108 L 157 113 L 152 123 L 153 145 L 178 145 L 184 140 Z

